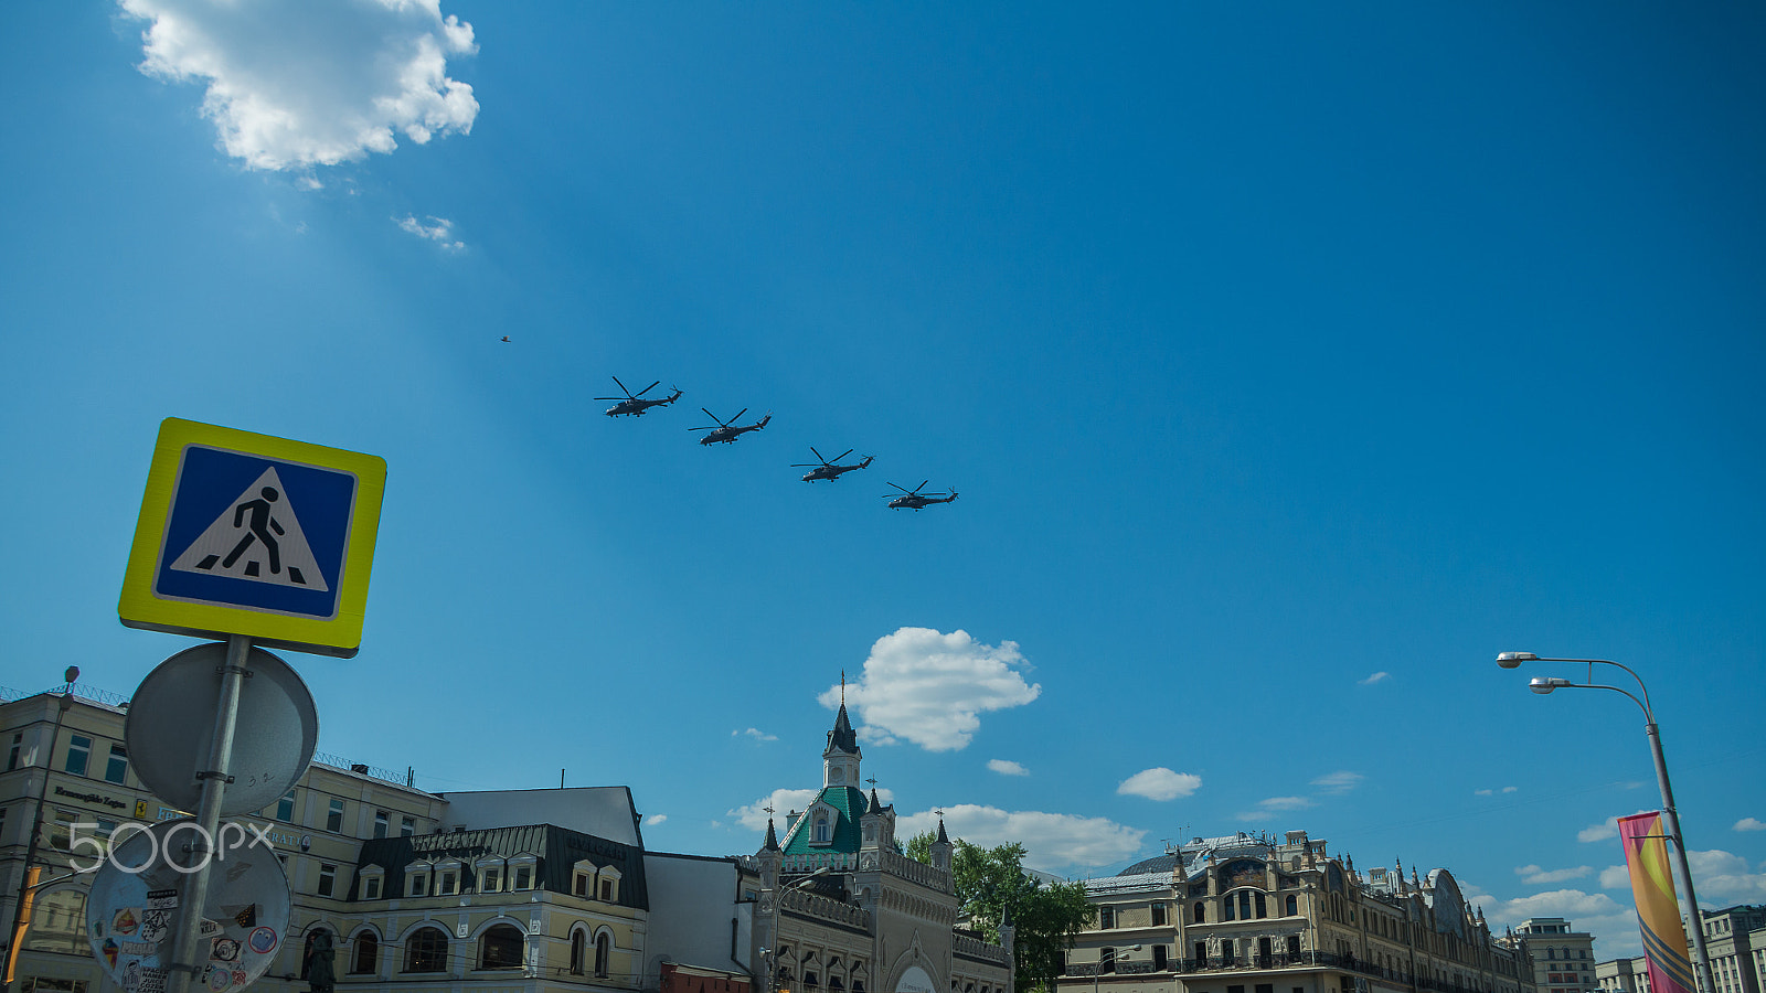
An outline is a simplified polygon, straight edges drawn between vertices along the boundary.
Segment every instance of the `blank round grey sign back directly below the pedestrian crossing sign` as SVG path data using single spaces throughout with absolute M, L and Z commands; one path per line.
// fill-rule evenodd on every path
M 208 770 L 215 714 L 221 707 L 221 666 L 226 645 L 185 648 L 147 673 L 129 701 L 124 740 L 134 774 L 168 806 L 196 811 Z M 313 762 L 320 716 L 313 693 L 283 659 L 253 648 L 251 677 L 238 691 L 233 730 L 233 781 L 221 795 L 221 816 L 260 811 L 288 792 Z

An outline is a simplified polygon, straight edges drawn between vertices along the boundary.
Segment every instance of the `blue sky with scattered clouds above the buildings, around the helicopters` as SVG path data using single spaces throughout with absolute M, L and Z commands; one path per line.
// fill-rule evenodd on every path
M 189 643 L 115 610 L 184 417 L 387 459 L 362 654 L 286 657 L 321 749 L 431 790 L 565 769 L 752 852 L 844 670 L 906 829 L 1067 875 L 1307 829 L 1634 951 L 1642 719 L 1524 648 L 1644 673 L 1701 898 L 1766 901 L 1761 11 L 12 30 L 0 684 Z M 615 422 L 611 376 L 685 396 Z M 885 507 L 922 479 L 961 500 Z

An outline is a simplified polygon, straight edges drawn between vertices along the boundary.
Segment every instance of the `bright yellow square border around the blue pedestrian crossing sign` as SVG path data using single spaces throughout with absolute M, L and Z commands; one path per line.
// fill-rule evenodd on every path
M 189 445 L 207 445 L 355 475 L 350 548 L 344 550 L 343 583 L 337 590 L 337 613 L 334 617 L 323 620 L 290 617 L 249 606 L 196 604 L 154 595 L 154 576 L 164 553 L 166 518 L 171 512 L 171 496 L 178 482 L 184 449 Z M 367 580 L 374 564 L 374 537 L 380 532 L 380 502 L 385 491 L 387 461 L 380 456 L 168 417 L 159 424 L 154 465 L 147 470 L 147 493 L 141 496 L 141 518 L 134 527 L 134 544 L 124 571 L 117 617 L 124 625 L 145 631 L 196 638 L 245 634 L 253 643 L 267 648 L 353 657 L 362 647 Z

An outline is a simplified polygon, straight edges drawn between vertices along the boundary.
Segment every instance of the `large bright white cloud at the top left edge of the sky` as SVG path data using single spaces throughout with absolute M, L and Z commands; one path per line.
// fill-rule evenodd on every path
M 254 170 L 334 166 L 466 134 L 472 87 L 447 76 L 473 55 L 472 25 L 440 0 L 120 0 L 143 21 L 141 71 L 205 81 L 203 117 Z

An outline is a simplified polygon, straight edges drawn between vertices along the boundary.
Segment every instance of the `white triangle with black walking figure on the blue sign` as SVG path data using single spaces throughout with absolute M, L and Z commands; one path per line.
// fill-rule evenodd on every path
M 275 466 L 263 470 L 231 507 L 178 555 L 180 572 L 208 572 L 325 592 L 325 572 L 313 558 L 295 507 L 283 498 Z

